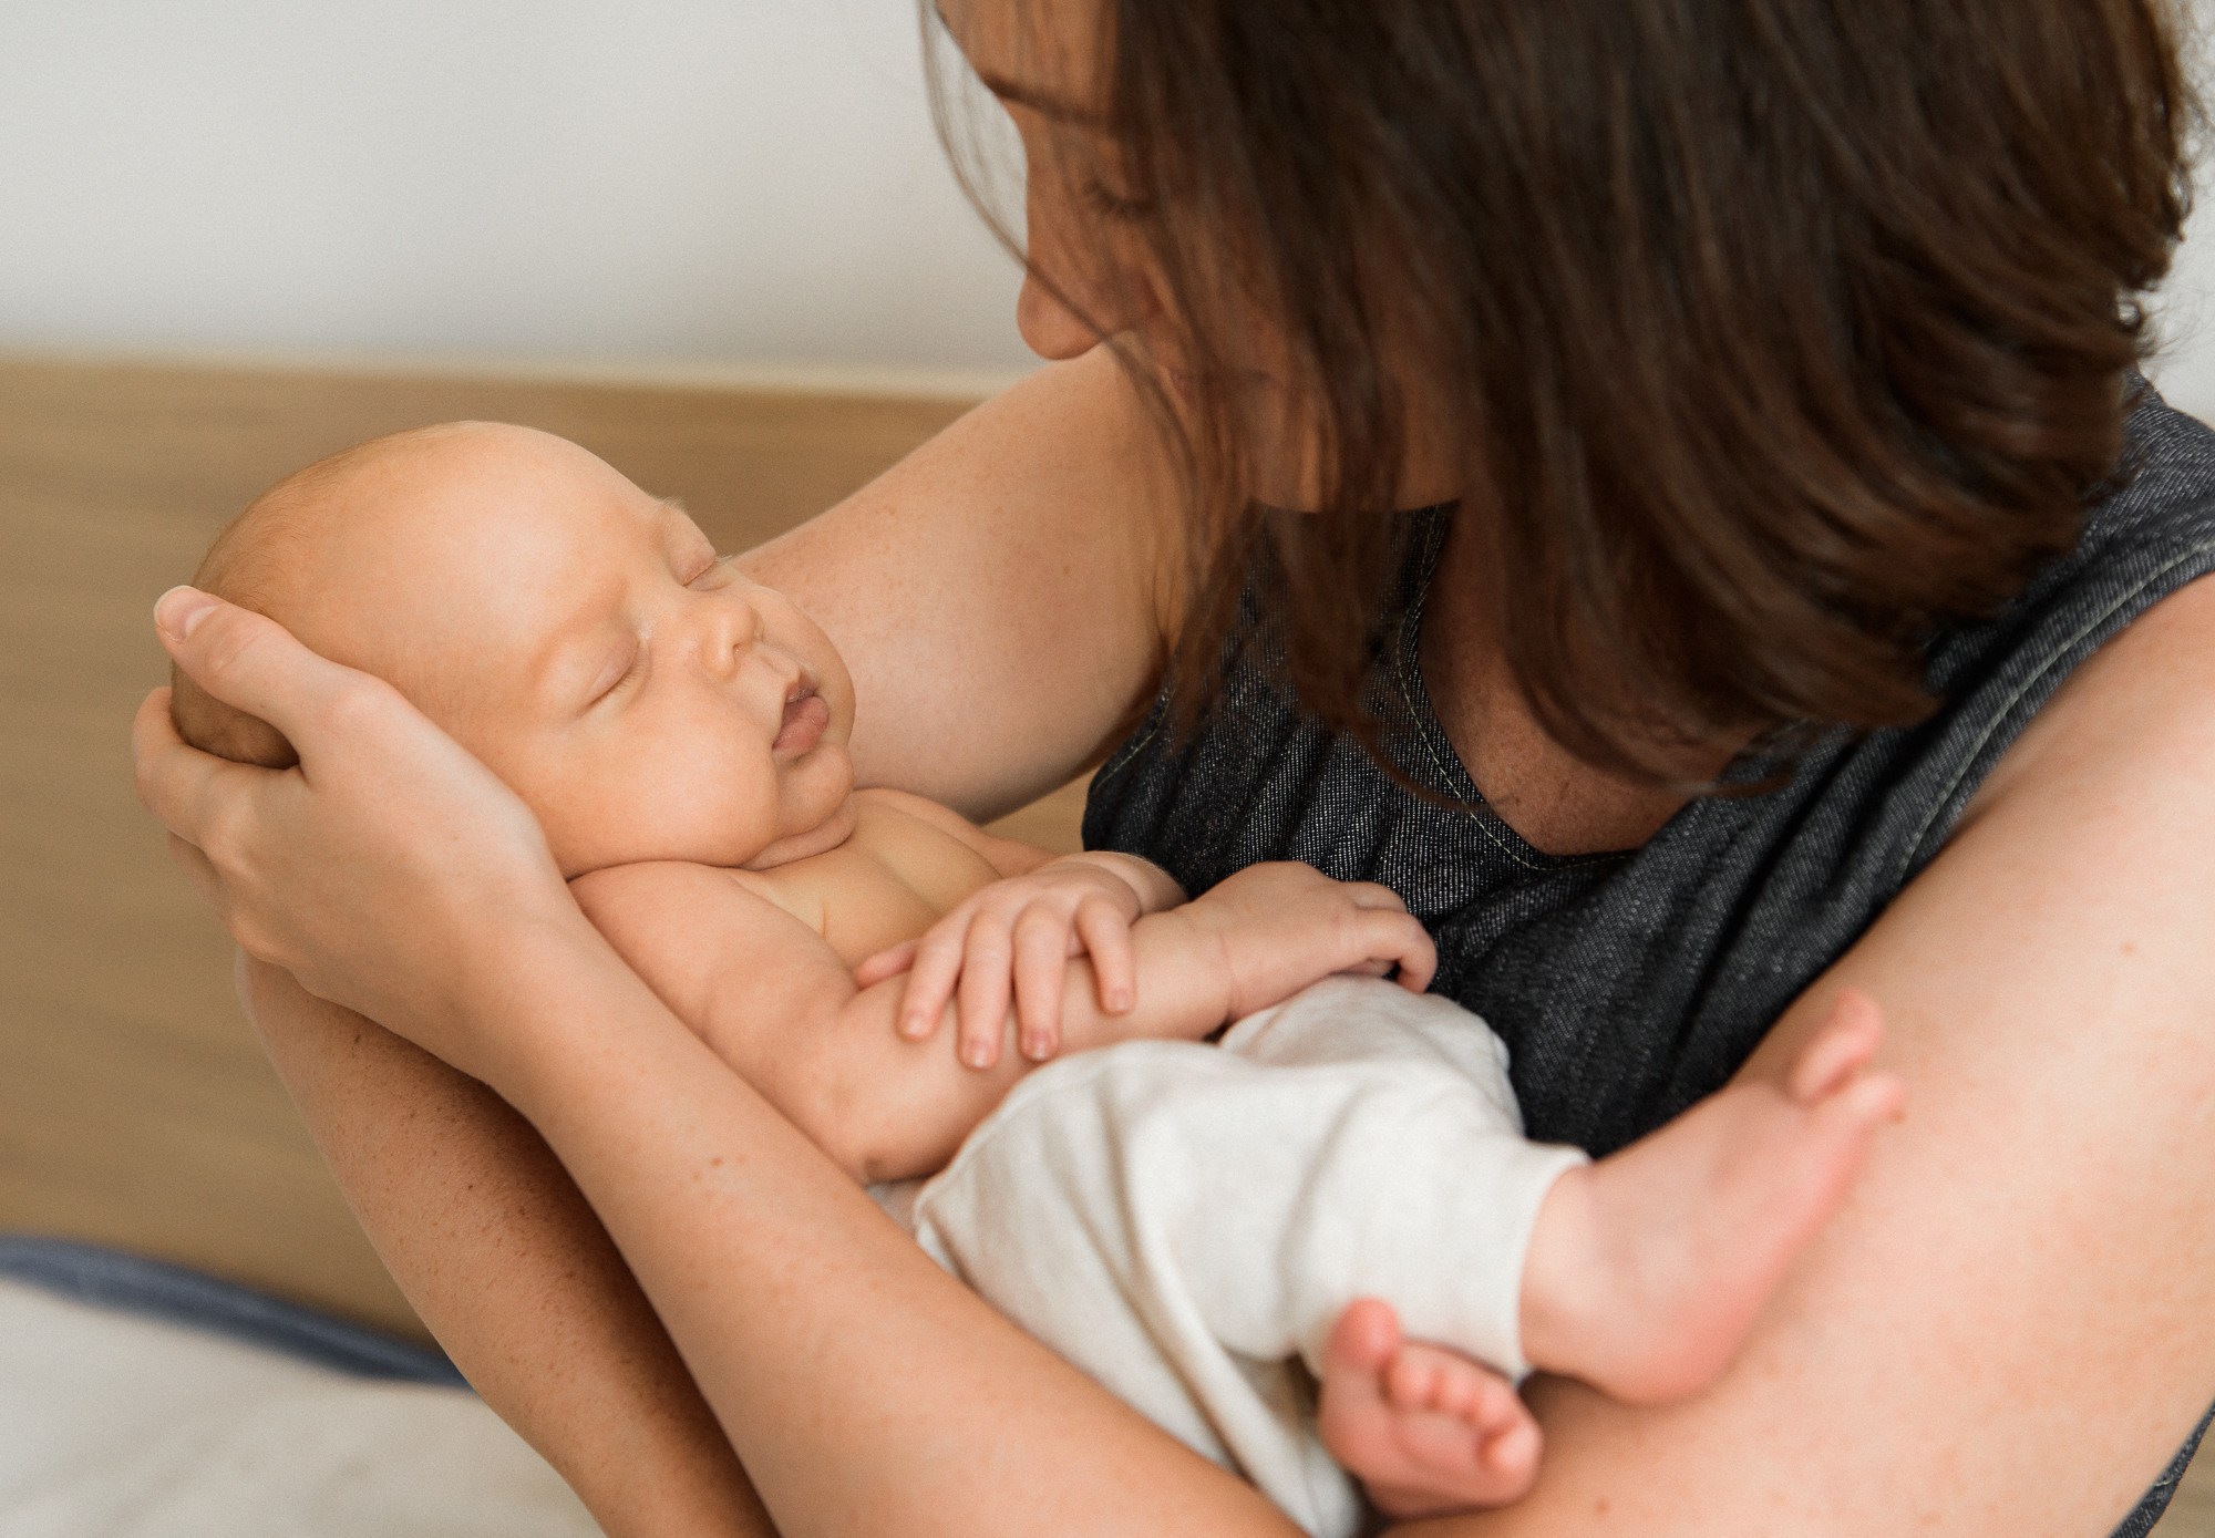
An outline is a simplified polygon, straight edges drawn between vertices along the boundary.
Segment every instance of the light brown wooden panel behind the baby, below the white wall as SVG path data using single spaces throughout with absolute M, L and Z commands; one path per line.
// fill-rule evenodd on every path
M 0 1228 L 120 1243 L 394 1330 L 230 997 L 230 949 L 131 793 L 148 607 L 288 470 L 405 425 L 571 437 L 742 550 L 964 410 L 700 388 L 0 359 Z M 1074 847 L 1072 796 L 1010 831 Z

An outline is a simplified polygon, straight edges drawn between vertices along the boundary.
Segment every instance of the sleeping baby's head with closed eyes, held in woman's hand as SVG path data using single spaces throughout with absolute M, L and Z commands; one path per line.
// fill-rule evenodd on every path
M 529 804 L 565 875 L 777 864 L 851 827 L 828 636 L 576 443 L 452 423 L 350 448 L 255 499 L 193 585 L 394 685 Z M 208 751 L 292 762 L 182 674 L 171 711 Z

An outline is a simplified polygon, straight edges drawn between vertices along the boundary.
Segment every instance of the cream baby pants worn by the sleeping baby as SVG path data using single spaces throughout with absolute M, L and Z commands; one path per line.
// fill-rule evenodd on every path
M 1362 1522 L 1313 1432 L 1340 1310 L 1524 1374 L 1524 1252 L 1575 1148 L 1531 1144 L 1506 1046 L 1331 977 L 1220 1046 L 1127 1042 L 1023 1079 L 915 1197 L 917 1241 L 1307 1531 Z

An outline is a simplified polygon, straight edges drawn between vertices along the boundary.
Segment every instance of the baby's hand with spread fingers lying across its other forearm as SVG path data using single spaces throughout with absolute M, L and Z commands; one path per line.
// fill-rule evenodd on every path
M 1132 855 L 1092 853 L 992 882 L 930 926 L 921 940 L 882 951 L 855 968 L 870 984 L 908 971 L 899 1035 L 928 1037 L 946 1004 L 959 1006 L 955 1046 L 970 1068 L 999 1062 L 1014 993 L 1017 1044 L 1030 1062 L 1061 1050 L 1061 984 L 1070 957 L 1092 957 L 1101 1011 L 1125 1015 L 1139 1002 L 1130 926 L 1172 906 L 1183 891 Z

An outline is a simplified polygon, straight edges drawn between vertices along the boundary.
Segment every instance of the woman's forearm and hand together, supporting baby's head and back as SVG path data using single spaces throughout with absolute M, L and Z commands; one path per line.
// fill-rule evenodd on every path
M 162 621 L 195 678 L 301 753 L 208 758 L 151 696 L 140 791 L 186 867 L 259 960 L 540 1130 L 782 1531 L 1289 1534 L 946 1276 L 727 1073 L 576 909 L 514 796 L 392 689 L 244 609 L 173 598 Z

